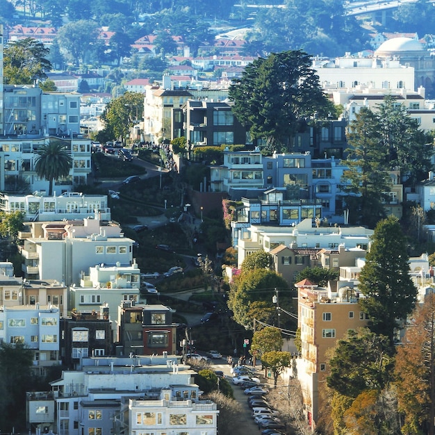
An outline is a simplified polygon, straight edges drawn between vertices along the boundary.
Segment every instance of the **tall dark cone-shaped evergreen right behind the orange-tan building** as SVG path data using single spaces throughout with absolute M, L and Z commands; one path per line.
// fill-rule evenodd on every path
M 372 237 L 359 276 L 359 301 L 370 317 L 370 329 L 388 336 L 393 345 L 397 320 L 405 320 L 416 304 L 417 290 L 409 277 L 407 243 L 397 218 L 381 220 Z

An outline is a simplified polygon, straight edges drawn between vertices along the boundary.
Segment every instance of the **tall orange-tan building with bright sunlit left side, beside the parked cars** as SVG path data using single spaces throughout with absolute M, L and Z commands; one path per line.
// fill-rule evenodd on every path
M 353 284 L 335 281 L 334 286 L 319 288 L 307 279 L 295 284 L 298 290 L 298 328 L 302 354 L 297 359 L 297 379 L 302 387 L 306 418 L 312 428 L 322 406 L 319 390 L 327 377 L 327 351 L 349 329 L 367 325 L 359 308 L 359 293 Z

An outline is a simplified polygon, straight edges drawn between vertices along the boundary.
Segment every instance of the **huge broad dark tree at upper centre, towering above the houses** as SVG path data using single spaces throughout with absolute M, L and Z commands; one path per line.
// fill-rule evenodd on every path
M 327 115 L 332 107 L 304 51 L 257 58 L 230 86 L 229 99 L 240 123 L 269 151 L 291 151 L 301 121 Z

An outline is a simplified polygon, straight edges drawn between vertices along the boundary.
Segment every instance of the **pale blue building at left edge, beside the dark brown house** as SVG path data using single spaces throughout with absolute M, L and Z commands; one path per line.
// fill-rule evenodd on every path
M 33 351 L 33 367 L 38 375 L 59 360 L 59 309 L 54 305 L 15 305 L 0 307 L 0 340 L 22 343 Z

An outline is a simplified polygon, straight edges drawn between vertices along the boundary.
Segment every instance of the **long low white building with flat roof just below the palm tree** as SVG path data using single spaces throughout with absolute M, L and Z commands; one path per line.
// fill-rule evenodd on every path
M 24 220 L 50 222 L 84 219 L 99 213 L 101 220 L 110 220 L 107 195 L 86 195 L 81 192 L 63 192 L 48 196 L 35 191 L 31 195 L 9 195 L 0 192 L 0 211 L 24 213 Z

